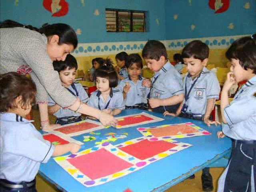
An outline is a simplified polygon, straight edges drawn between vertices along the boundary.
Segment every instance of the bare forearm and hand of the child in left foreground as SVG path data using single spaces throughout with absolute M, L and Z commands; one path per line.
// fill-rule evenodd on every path
M 52 157 L 63 155 L 67 152 L 76 153 L 80 150 L 81 146 L 76 143 L 69 143 L 64 145 L 56 145 Z

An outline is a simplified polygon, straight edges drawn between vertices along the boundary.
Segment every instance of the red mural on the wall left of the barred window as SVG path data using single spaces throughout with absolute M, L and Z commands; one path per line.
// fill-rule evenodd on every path
M 62 17 L 68 14 L 69 4 L 66 0 L 44 0 L 43 6 L 52 13 L 52 17 Z

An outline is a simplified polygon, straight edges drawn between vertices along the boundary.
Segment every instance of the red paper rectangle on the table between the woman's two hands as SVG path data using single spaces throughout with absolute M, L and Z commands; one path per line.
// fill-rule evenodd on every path
M 99 125 L 94 123 L 89 123 L 89 122 L 83 122 L 78 125 L 61 127 L 61 128 L 55 129 L 54 131 L 59 131 L 64 134 L 70 134 L 70 133 L 76 133 L 76 132 L 92 129 L 95 127 L 99 127 Z

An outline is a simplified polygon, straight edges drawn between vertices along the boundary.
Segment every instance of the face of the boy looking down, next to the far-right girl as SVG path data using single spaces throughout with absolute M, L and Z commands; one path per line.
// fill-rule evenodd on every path
M 201 61 L 200 59 L 195 59 L 194 57 L 183 58 L 186 68 L 191 77 L 197 77 L 200 72 L 203 70 L 208 62 L 208 58 Z

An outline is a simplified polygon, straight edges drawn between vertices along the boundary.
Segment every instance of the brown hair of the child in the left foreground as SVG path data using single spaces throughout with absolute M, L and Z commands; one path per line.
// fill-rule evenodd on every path
M 34 104 L 36 84 L 24 75 L 10 72 L 0 75 L 0 112 L 8 112 L 17 108 L 16 98 L 21 96 L 20 105 L 23 109 Z

